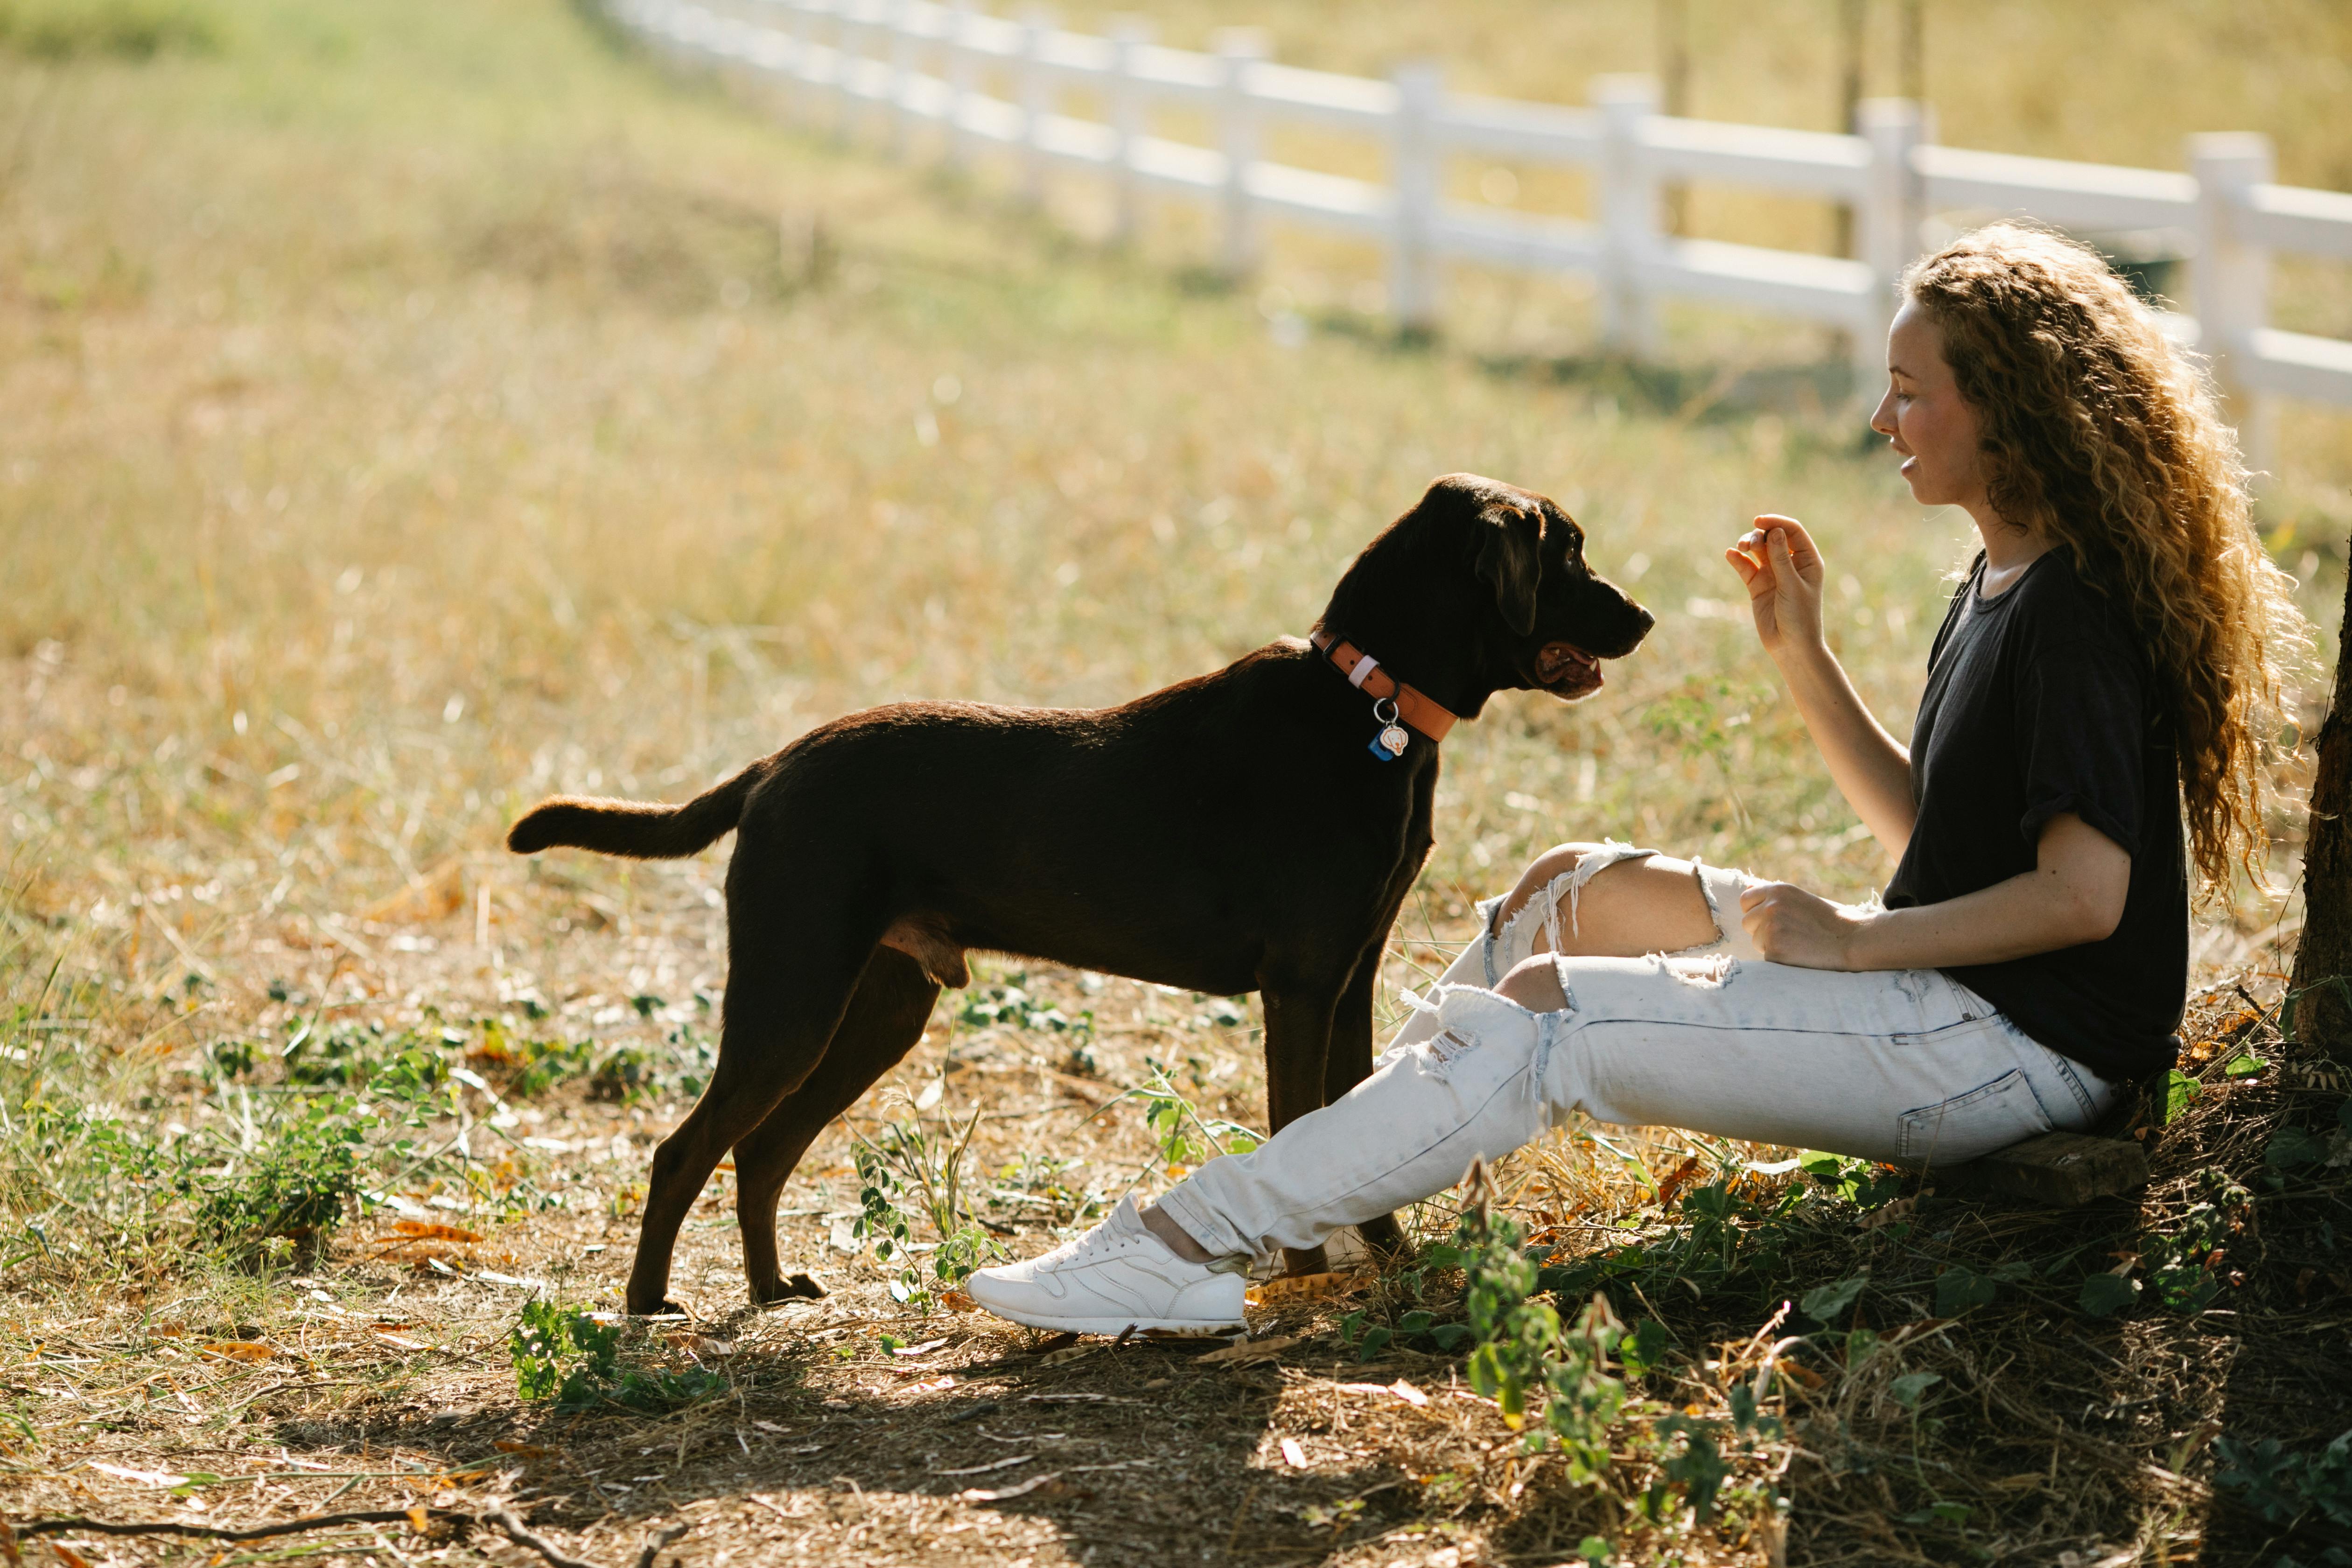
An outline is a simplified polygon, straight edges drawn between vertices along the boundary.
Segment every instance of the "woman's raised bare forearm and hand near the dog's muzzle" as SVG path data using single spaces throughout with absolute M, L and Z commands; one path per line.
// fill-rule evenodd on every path
M 1886 853 L 1900 860 L 1919 816 L 1912 804 L 1910 752 L 1870 717 L 1820 635 L 1820 550 L 1795 517 L 1766 515 L 1724 550 L 1724 559 L 1748 583 L 1757 642 L 1780 668 L 1839 795 Z

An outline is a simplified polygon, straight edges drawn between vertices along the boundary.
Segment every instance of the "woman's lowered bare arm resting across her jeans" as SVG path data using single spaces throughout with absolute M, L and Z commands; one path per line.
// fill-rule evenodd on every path
M 2096 943 L 2124 919 L 2131 856 L 2072 811 L 2042 825 L 2034 870 L 1990 889 L 1856 914 L 1785 882 L 1740 893 L 1740 924 L 1773 964 L 1943 969 Z

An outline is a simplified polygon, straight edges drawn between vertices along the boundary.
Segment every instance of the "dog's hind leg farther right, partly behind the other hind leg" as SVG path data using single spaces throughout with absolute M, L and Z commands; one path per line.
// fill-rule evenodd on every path
M 922 964 L 896 947 L 875 947 L 816 1072 L 750 1135 L 736 1140 L 736 1220 L 743 1225 L 743 1274 L 753 1302 L 818 1295 L 807 1274 L 783 1276 L 776 1255 L 776 1197 L 826 1124 L 856 1105 L 877 1077 L 915 1048 L 934 1001 L 938 983 Z

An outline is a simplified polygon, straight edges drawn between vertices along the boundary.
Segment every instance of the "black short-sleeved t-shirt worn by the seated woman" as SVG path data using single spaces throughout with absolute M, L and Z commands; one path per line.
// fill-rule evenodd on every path
M 2103 1079 L 2173 1065 L 2190 969 L 2190 884 L 2171 719 L 2119 604 L 2051 550 L 1997 599 L 1985 557 L 1952 595 L 1912 729 L 1919 820 L 1886 907 L 1943 903 L 2034 870 L 2072 811 L 2131 853 L 2114 933 L 1945 973 Z

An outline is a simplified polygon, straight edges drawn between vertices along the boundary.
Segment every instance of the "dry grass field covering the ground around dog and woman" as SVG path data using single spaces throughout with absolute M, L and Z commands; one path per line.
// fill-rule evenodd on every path
M 1828 9 L 1700 5 L 1736 31 L 1698 108 L 1823 122 Z M 1162 24 L 1526 96 L 1644 63 L 1609 7 L 1435 16 Z M 2340 7 L 1929 21 L 1957 143 L 2171 165 L 2258 127 L 2352 188 Z M 1272 1284 L 1230 1354 L 957 1312 L 941 1258 L 1040 1251 L 1263 1119 L 1249 999 L 1051 966 L 983 964 L 811 1150 L 786 1246 L 823 1300 L 743 1305 L 722 1171 L 689 1321 L 607 1345 L 586 1314 L 708 1072 L 724 846 L 522 863 L 539 795 L 680 797 L 898 696 L 1127 698 L 1305 630 L 1482 470 L 1578 512 L 1661 632 L 1446 743 L 1392 994 L 1559 839 L 1884 879 L 1717 552 L 1806 517 L 1900 726 L 1966 529 L 1907 503 L 1813 334 L 1675 317 L 1635 371 L 1576 292 L 1463 275 L 1397 348 L 1376 259 L 1284 242 L 1228 292 L 1181 216 L 1105 254 L 1084 190 L 1044 223 L 767 108 L 557 0 L 0 0 L 0 1556 L 548 1561 L 480 1523 L 506 1505 L 597 1568 L 673 1526 L 694 1568 L 2338 1561 L 2345 1084 L 2279 1039 L 2298 905 L 2253 891 L 2199 931 L 2136 1201 L 1898 1197 L 1663 1128 L 1508 1161 L 1562 1312 L 1637 1328 L 1597 1483 L 1472 1392 L 1444 1331 L 1479 1262 Z M 2281 320 L 2347 310 L 2281 277 Z M 2333 630 L 2352 421 L 2286 437 L 2265 534 Z M 882 1258 L 896 1225 L 920 1251 Z M 369 1519 L 205 1535 L 308 1514 Z M 183 1533 L 33 1530 L 68 1516 Z

